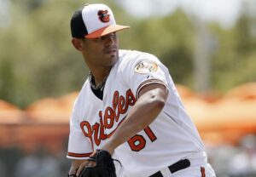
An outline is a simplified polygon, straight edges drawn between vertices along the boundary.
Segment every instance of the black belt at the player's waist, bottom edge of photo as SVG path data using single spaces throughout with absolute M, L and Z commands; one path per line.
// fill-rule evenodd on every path
M 168 168 L 171 171 L 171 173 L 175 173 L 178 170 L 184 169 L 184 168 L 188 168 L 190 166 L 190 161 L 189 159 L 183 159 L 178 161 L 177 163 L 173 163 L 172 165 L 170 165 Z M 163 174 L 161 174 L 160 171 L 150 175 L 149 177 L 163 177 Z

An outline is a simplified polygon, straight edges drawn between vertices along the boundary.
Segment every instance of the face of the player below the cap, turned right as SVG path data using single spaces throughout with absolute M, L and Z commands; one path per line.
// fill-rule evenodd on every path
M 116 33 L 106 36 L 83 40 L 84 60 L 89 67 L 113 66 L 119 57 L 119 42 Z

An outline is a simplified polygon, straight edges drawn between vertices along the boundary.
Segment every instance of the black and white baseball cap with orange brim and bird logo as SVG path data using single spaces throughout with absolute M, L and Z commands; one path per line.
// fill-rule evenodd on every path
M 114 31 L 120 31 L 130 26 L 117 25 L 113 12 L 102 3 L 85 4 L 78 9 L 71 19 L 72 37 L 96 38 Z

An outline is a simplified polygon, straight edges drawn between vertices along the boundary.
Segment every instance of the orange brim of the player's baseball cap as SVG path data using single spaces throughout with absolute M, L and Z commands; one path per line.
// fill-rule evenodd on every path
M 88 35 L 85 35 L 85 38 L 97 38 L 97 37 L 102 37 L 105 36 L 111 32 L 114 31 L 120 31 L 120 30 L 125 30 L 127 28 L 130 28 L 130 26 L 119 26 L 119 25 L 111 25 L 111 26 L 106 26 L 103 27 L 97 31 L 94 31 Z

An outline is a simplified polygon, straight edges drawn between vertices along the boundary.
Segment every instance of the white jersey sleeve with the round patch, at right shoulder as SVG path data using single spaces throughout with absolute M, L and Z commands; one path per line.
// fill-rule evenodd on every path
M 168 69 L 159 59 L 146 53 L 129 56 L 122 71 L 124 83 L 136 93 L 137 98 L 140 90 L 150 83 L 160 83 L 168 88 L 168 73 Z

